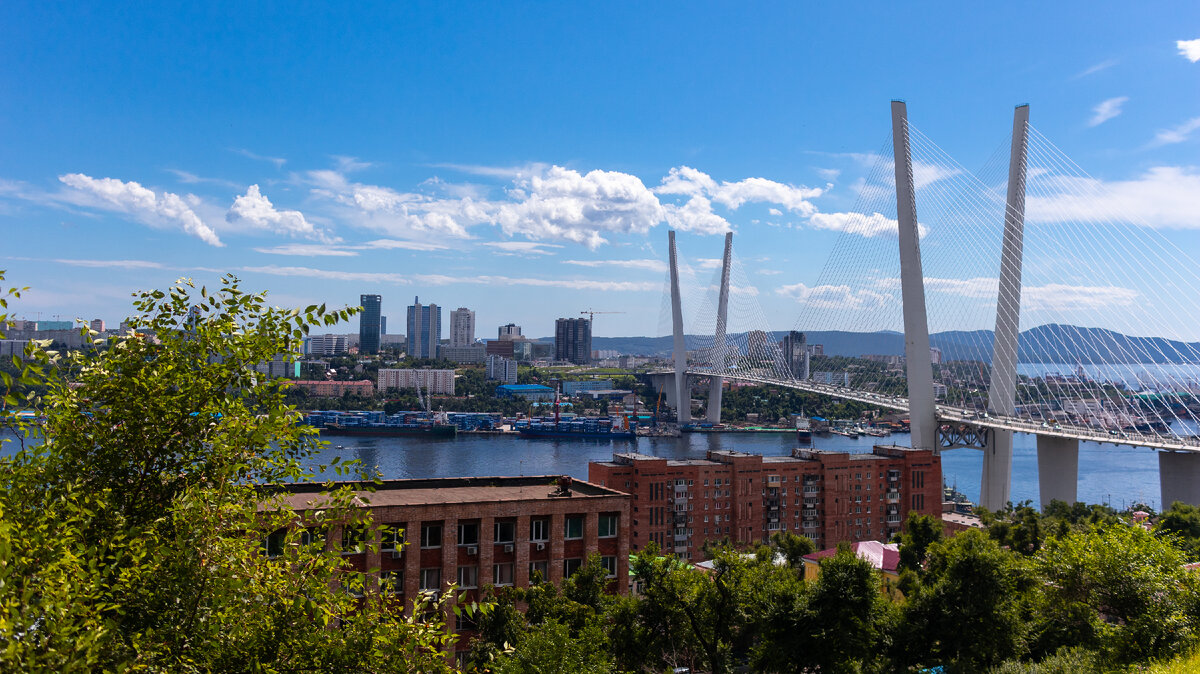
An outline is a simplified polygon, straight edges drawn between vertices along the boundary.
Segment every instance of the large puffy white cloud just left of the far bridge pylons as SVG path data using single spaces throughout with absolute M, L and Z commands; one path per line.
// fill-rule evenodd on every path
M 628 173 L 587 174 L 551 167 L 544 175 L 517 180 L 512 199 L 492 219 L 508 236 L 574 241 L 598 248 L 605 234 L 646 234 L 662 222 L 662 205 L 646 185 Z

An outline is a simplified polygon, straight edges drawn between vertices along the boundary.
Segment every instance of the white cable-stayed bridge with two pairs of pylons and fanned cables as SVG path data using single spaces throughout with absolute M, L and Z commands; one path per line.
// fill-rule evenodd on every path
M 781 339 L 732 234 L 708 283 L 670 234 L 674 367 L 656 375 L 679 422 L 690 381 L 708 380 L 712 422 L 725 380 L 774 385 L 905 411 L 914 447 L 982 450 L 989 508 L 1008 501 L 1014 433 L 1037 435 L 1043 504 L 1075 500 L 1080 441 L 1162 450 L 1164 506 L 1200 504 L 1200 275 L 1127 212 L 1136 201 L 1084 173 L 1027 106 L 968 171 L 895 101 L 889 142 L 864 162 L 853 211 L 811 217 L 840 234 L 814 285 L 780 289 L 799 308 Z M 892 337 L 902 355 L 817 353 L 815 330 Z M 685 333 L 703 337 L 689 349 Z

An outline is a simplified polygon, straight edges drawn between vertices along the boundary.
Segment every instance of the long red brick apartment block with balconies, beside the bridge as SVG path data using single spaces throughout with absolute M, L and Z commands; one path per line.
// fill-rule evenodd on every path
M 701 559 L 706 541 L 767 541 L 776 531 L 812 540 L 887 541 L 908 511 L 941 516 L 942 459 L 929 450 L 871 453 L 797 449 L 764 457 L 710 450 L 704 459 L 618 453 L 588 464 L 588 480 L 632 494 L 631 544 Z

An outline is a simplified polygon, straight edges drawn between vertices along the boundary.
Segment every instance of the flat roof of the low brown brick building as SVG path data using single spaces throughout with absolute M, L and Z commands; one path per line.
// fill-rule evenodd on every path
M 355 489 L 359 505 L 366 507 L 422 506 L 443 504 L 474 504 L 499 501 L 553 501 L 566 499 L 629 498 L 628 494 L 601 487 L 584 480 L 572 480 L 570 497 L 557 497 L 558 475 L 534 475 L 526 477 L 438 477 L 428 480 L 384 480 L 374 485 L 374 491 Z M 274 489 L 284 492 L 283 500 L 295 510 L 319 507 L 325 504 L 323 492 L 338 487 L 366 487 L 364 482 L 334 482 L 332 485 L 305 482 L 276 485 Z

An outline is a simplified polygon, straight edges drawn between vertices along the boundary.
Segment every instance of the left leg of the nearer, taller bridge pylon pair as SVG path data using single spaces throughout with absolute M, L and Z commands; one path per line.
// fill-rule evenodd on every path
M 934 404 L 934 365 L 925 314 L 925 276 L 920 266 L 920 235 L 908 146 L 908 110 L 892 101 L 892 150 L 896 180 L 896 221 L 900 225 L 900 296 L 904 305 L 904 353 L 908 377 L 908 426 L 913 449 L 940 451 L 937 408 Z

